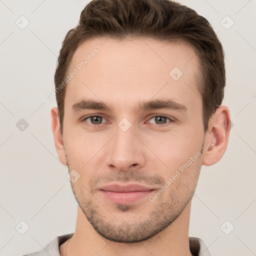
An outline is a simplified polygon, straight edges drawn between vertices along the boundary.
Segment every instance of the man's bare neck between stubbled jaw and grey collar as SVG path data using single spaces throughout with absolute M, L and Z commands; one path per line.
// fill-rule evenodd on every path
M 192 256 L 188 240 L 190 207 L 191 200 L 169 226 L 153 237 L 141 242 L 121 243 L 107 240 L 99 235 L 78 205 L 74 234 L 70 240 L 60 245 L 60 255 L 152 256 L 160 254 L 161 256 Z M 67 242 L 68 246 L 66 247 Z

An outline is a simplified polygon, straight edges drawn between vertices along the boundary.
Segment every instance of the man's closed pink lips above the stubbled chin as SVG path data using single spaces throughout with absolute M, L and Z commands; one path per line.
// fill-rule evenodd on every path
M 149 195 L 155 189 L 140 184 L 120 185 L 117 183 L 101 187 L 100 192 L 112 201 L 118 204 L 128 204 Z

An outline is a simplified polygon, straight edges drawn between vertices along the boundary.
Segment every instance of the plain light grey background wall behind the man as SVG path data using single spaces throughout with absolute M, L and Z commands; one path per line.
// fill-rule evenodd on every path
M 0 0 L 0 255 L 41 250 L 54 236 L 74 231 L 77 203 L 54 147 L 55 99 L 46 94 L 54 89 L 63 37 L 87 2 Z M 189 235 L 202 238 L 212 256 L 256 255 L 256 1 L 180 2 L 205 16 L 223 44 L 223 104 L 233 123 L 222 159 L 202 166 Z M 21 15 L 29 21 L 24 29 L 15 24 L 25 24 Z M 229 29 L 227 15 L 234 21 Z M 16 126 L 21 118 L 29 125 L 23 131 Z M 21 220 L 29 226 L 24 234 L 15 228 Z

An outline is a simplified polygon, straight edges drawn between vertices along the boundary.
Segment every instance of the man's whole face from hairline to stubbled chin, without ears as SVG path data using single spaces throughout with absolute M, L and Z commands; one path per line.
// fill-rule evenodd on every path
M 97 38 L 78 47 L 73 68 L 63 144 L 69 171 L 80 175 L 75 198 L 107 239 L 147 239 L 179 216 L 196 187 L 204 144 L 198 59 L 182 43 Z M 164 107 L 167 100 L 177 106 Z

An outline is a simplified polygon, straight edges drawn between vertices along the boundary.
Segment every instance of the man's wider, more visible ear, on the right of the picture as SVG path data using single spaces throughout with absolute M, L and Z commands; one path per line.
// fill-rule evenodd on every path
M 227 106 L 219 106 L 210 118 L 205 135 L 203 165 L 212 165 L 223 156 L 231 128 L 230 113 Z

